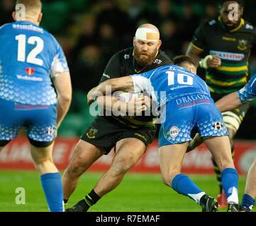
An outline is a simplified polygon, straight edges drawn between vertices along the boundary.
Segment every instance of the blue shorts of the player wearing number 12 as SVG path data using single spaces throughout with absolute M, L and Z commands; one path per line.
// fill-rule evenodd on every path
M 56 119 L 56 105 L 23 105 L 0 98 L 0 141 L 16 138 L 24 126 L 29 141 L 52 142 Z

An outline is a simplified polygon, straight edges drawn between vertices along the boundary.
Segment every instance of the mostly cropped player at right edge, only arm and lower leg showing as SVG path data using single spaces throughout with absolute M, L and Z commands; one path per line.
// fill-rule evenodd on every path
M 238 90 L 238 92 L 230 93 L 216 102 L 216 107 L 221 112 L 226 112 L 236 107 L 240 107 L 243 103 L 256 98 L 256 74 L 250 81 Z M 255 204 L 256 197 L 256 160 L 250 166 L 247 173 L 245 184 L 245 194 L 243 194 L 242 203 L 240 204 L 241 212 L 250 212 Z

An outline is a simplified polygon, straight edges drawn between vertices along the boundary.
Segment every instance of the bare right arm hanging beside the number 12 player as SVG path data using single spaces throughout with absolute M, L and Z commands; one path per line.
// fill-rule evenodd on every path
M 57 91 L 57 128 L 59 128 L 72 100 L 72 85 L 69 71 L 59 73 L 52 78 Z

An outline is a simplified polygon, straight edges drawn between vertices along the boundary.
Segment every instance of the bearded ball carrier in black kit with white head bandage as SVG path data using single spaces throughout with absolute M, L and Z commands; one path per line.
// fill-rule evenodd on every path
M 108 61 L 100 83 L 117 76 L 143 73 L 160 66 L 172 64 L 165 52 L 160 50 L 159 30 L 151 24 L 141 25 L 133 37 L 133 47 L 123 49 Z M 113 96 L 103 101 L 117 102 Z M 98 98 L 99 99 L 99 98 Z M 98 100 L 97 102 L 102 101 Z M 140 101 L 143 101 L 141 98 Z M 120 101 L 119 101 L 120 102 Z M 84 212 L 99 198 L 120 184 L 128 169 L 143 156 L 155 136 L 153 116 L 98 116 L 85 131 L 74 150 L 67 169 L 63 173 L 64 201 L 67 203 L 79 182 L 79 177 L 102 155 L 114 147 L 115 156 L 111 167 L 101 176 L 96 186 L 67 212 Z

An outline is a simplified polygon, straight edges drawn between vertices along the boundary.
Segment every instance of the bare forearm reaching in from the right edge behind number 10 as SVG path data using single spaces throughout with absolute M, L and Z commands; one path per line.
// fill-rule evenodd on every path
M 234 92 L 221 98 L 221 100 L 218 100 L 215 105 L 220 110 L 220 112 L 227 112 L 240 107 L 243 105 L 243 102 L 240 101 L 238 93 Z

